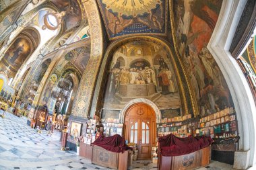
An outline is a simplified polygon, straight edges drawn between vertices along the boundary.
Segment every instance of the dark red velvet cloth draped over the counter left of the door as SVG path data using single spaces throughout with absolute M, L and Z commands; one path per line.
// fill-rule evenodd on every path
M 100 146 L 113 153 L 123 153 L 125 150 L 131 149 L 130 147 L 125 146 L 125 139 L 119 134 L 108 137 L 99 136 L 92 144 Z

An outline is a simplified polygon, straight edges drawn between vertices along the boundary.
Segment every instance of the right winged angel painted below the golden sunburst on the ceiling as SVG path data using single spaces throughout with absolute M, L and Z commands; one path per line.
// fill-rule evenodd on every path
M 156 10 L 155 13 L 152 13 L 152 10 L 148 10 L 148 17 L 138 17 L 138 22 L 144 24 L 151 28 L 152 30 L 162 30 L 164 23 L 164 6 L 160 3 L 160 12 Z

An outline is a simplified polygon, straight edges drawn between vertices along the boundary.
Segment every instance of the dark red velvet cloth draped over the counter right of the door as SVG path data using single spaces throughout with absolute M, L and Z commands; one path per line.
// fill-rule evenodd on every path
M 158 138 L 160 152 L 164 157 L 186 155 L 210 146 L 212 138 L 206 136 L 178 138 L 173 134 Z

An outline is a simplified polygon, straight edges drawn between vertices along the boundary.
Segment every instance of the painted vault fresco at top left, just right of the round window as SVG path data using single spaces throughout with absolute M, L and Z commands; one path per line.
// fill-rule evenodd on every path
M 82 19 L 82 11 L 75 0 L 52 0 L 60 11 L 66 11 L 63 17 L 67 30 L 79 26 Z

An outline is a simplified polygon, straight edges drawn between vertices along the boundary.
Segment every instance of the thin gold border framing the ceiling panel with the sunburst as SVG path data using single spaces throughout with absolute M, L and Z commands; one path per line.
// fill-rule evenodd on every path
M 109 30 L 108 30 L 108 26 L 106 25 L 106 19 L 105 19 L 105 15 L 104 15 L 104 12 L 102 11 L 102 7 L 100 5 L 100 0 L 96 0 L 97 1 L 97 4 L 98 4 L 98 8 L 100 9 L 100 14 L 102 15 L 102 19 L 103 19 L 103 22 L 104 22 L 104 26 L 105 26 L 105 29 L 106 29 L 106 34 L 108 34 L 108 39 L 109 40 L 117 40 L 119 38 L 127 38 L 128 36 L 167 36 L 167 28 L 168 28 L 168 0 L 165 0 L 165 30 L 164 30 L 164 33 L 161 34 L 161 33 L 141 33 L 141 34 L 125 34 L 123 36 L 115 36 L 113 38 L 110 37 L 110 34 L 109 34 Z M 156 1 L 156 0 L 155 0 Z

